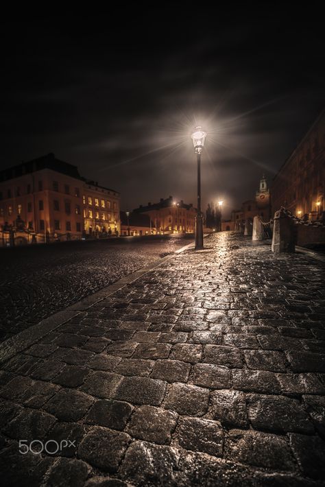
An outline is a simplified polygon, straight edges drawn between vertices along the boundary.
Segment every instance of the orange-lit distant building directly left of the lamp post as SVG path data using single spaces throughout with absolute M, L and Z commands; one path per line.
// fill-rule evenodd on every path
M 158 203 L 140 205 L 134 213 L 149 215 L 152 233 L 194 233 L 196 209 L 193 204 L 173 200 L 172 196 L 160 198 Z

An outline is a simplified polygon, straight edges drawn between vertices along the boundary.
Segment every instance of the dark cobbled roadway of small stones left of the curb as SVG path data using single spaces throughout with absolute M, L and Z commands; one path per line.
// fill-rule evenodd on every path
M 1 250 L 0 342 L 189 244 L 188 237 L 71 241 Z

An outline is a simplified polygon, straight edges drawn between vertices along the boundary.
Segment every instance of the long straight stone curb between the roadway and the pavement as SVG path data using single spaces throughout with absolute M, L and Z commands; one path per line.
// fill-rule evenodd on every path
M 58 311 L 48 318 L 45 318 L 38 324 L 34 324 L 26 330 L 17 333 L 17 335 L 8 338 L 8 340 L 5 340 L 5 342 L 0 344 L 0 364 L 3 364 L 5 361 L 8 361 L 12 357 L 14 357 L 14 355 L 16 355 L 17 353 L 20 353 L 29 346 L 32 346 L 34 343 L 45 337 L 45 335 L 48 335 L 49 333 L 51 333 L 51 331 L 71 320 L 71 318 L 75 318 L 75 316 L 78 316 L 81 311 L 91 308 L 93 305 L 96 305 L 97 302 L 108 298 L 108 296 L 111 296 L 115 292 L 119 291 L 119 289 L 122 289 L 126 285 L 133 283 L 144 274 L 151 272 L 155 268 L 159 267 L 159 265 L 162 265 L 163 263 L 173 259 L 175 254 L 180 254 L 182 252 L 185 252 L 186 250 L 189 250 L 191 246 L 194 246 L 194 242 L 191 242 L 191 244 L 187 244 L 186 246 L 181 247 L 180 249 L 173 252 L 173 254 L 171 255 L 162 257 L 158 261 L 154 261 L 144 268 L 132 272 L 132 274 L 129 274 L 128 276 L 119 279 L 119 281 L 116 281 L 116 283 L 103 287 L 94 294 L 91 294 L 91 296 L 87 296 L 86 298 L 75 302 L 73 305 L 65 308 L 64 310 Z

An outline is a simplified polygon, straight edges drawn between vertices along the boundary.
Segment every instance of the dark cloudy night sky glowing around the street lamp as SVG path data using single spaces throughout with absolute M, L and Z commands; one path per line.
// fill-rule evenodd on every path
M 195 204 L 200 124 L 204 207 L 254 198 L 324 106 L 324 28 L 313 2 L 235 5 L 1 23 L 1 168 L 54 152 L 124 210 Z

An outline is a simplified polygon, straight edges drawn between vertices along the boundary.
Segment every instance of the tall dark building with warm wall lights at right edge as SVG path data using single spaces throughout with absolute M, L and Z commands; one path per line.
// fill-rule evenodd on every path
M 315 220 L 324 212 L 325 110 L 306 132 L 272 185 L 272 213 L 281 206 Z

